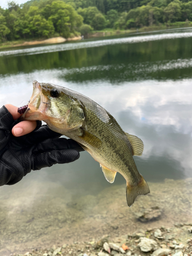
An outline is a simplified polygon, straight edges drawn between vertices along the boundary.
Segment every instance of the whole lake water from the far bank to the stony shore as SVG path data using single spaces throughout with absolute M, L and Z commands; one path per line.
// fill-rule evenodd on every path
M 192 28 L 0 51 L 0 105 L 27 104 L 34 79 L 90 97 L 125 132 L 141 138 L 143 155 L 134 158 L 153 193 L 165 179 L 181 180 L 186 189 L 192 177 Z M 107 225 L 97 234 L 88 228 L 90 218 L 103 216 L 113 204 L 113 191 L 121 192 L 117 214 L 123 208 L 129 215 L 123 177 L 108 183 L 99 163 L 87 152 L 80 155 L 0 188 L 0 255 L 113 234 Z M 103 195 L 108 197 L 101 207 Z M 191 214 L 176 212 L 172 223 L 185 217 Z M 168 224 L 169 218 L 160 222 Z

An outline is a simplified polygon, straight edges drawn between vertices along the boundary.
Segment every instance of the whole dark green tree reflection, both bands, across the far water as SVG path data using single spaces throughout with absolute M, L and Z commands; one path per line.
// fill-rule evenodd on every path
M 177 62 L 177 59 L 189 59 L 192 57 L 191 52 L 191 38 L 177 38 L 34 55 L 3 56 L 0 58 L 0 72 L 10 74 L 42 69 L 74 69 L 63 78 L 77 82 L 97 79 L 108 79 L 111 82 L 145 78 L 178 79 L 191 77 L 190 67 L 185 65 L 179 69 L 174 64 L 173 69 L 167 66 L 166 70 L 161 66 L 170 60 Z

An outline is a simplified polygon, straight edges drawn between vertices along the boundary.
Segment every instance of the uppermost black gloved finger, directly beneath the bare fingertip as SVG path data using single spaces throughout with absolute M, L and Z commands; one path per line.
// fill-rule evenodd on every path
M 59 138 L 60 136 L 60 133 L 53 132 L 47 125 L 42 125 L 37 131 L 28 136 L 28 142 L 35 144 L 49 138 Z

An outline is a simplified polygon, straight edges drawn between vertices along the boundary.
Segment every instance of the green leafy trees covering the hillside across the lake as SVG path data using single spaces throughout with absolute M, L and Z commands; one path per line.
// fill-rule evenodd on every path
M 192 21 L 187 0 L 32 0 L 0 7 L 0 41 Z

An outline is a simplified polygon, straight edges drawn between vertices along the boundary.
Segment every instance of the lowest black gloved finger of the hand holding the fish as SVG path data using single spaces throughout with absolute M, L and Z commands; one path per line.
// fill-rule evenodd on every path
M 76 150 L 53 150 L 34 156 L 33 170 L 50 167 L 56 163 L 70 163 L 79 158 L 80 154 Z

